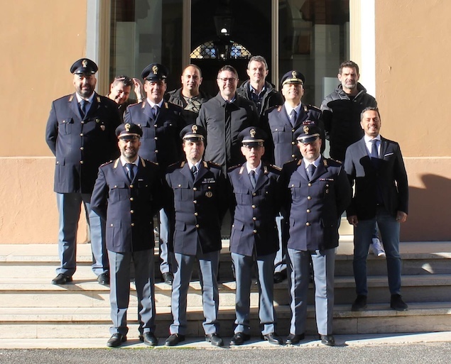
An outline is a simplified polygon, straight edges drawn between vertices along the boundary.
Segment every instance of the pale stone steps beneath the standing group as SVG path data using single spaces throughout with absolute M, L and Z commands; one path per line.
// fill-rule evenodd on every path
M 347 240 L 348 239 L 348 240 Z M 219 283 L 221 334 L 232 336 L 235 282 L 230 268 L 228 242 L 223 242 Z M 0 245 L 0 339 L 108 338 L 109 288 L 99 285 L 90 270 L 89 244 L 77 248 L 77 272 L 68 285 L 50 280 L 58 265 L 56 245 Z M 334 331 L 337 334 L 409 333 L 451 331 L 451 242 L 401 243 L 403 298 L 406 312 L 389 307 L 385 259 L 369 255 L 369 305 L 350 311 L 355 298 L 352 275 L 352 241 L 340 241 L 336 258 Z M 157 271 L 157 270 L 156 270 Z M 156 275 L 156 335 L 168 336 L 171 323 L 170 286 Z M 188 336 L 203 336 L 202 296 L 194 274 L 188 293 Z M 312 285 L 311 285 L 312 286 Z M 313 287 L 307 333 L 315 334 Z M 275 285 L 278 333 L 288 334 L 290 310 L 287 282 Z M 251 293 L 253 336 L 259 336 L 258 290 Z M 131 284 L 130 336 L 137 336 L 136 292 Z

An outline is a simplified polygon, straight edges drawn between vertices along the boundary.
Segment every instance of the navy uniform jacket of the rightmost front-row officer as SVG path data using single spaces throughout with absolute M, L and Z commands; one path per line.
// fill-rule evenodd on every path
M 309 182 L 303 160 L 293 160 L 283 166 L 282 180 L 283 216 L 289 224 L 288 248 L 336 248 L 338 221 L 351 202 L 352 193 L 342 164 L 321 158 Z

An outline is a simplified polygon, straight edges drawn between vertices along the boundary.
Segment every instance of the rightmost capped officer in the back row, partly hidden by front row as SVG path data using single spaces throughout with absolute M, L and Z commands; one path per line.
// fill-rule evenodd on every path
M 316 125 L 321 128 L 322 149 L 324 150 L 324 125 L 321 111 L 312 105 L 303 104 L 305 77 L 299 71 L 289 71 L 281 79 L 282 94 L 285 98 L 283 105 L 268 110 L 268 127 L 271 131 L 272 142 L 268 152 L 273 155 L 272 162 L 282 167 L 294 158 L 301 158 L 300 152 L 293 140 L 293 135 L 300 126 Z M 281 217 L 277 219 L 279 228 L 279 250 L 274 264 L 274 282 L 279 283 L 286 278 L 286 245 L 283 243 Z

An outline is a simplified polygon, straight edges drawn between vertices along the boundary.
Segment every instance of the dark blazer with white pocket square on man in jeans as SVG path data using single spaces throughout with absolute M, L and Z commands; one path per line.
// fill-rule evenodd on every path
M 407 172 L 399 144 L 381 137 L 379 153 L 377 163 L 371 162 L 364 138 L 347 148 L 344 169 L 351 185 L 355 183 L 347 216 L 357 215 L 359 220 L 374 218 L 378 189 L 379 198 L 382 198 L 389 214 L 396 216 L 396 211 L 408 213 Z

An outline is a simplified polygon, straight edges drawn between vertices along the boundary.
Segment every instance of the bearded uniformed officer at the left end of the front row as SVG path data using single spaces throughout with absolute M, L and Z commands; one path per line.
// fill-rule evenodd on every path
M 139 339 L 155 346 L 155 289 L 153 280 L 153 216 L 161 208 L 161 173 L 156 163 L 139 158 L 143 132 L 134 124 L 116 128 L 121 156 L 99 167 L 91 206 L 107 221 L 111 268 L 110 304 L 113 326 L 107 346 L 126 341 L 130 268 L 134 265 L 138 296 Z

